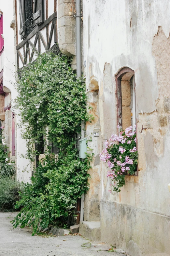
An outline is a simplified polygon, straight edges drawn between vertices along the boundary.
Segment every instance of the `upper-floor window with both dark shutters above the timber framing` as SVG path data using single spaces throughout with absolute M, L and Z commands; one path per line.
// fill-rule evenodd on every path
M 43 0 L 19 0 L 20 35 L 24 39 L 35 26 L 43 22 Z

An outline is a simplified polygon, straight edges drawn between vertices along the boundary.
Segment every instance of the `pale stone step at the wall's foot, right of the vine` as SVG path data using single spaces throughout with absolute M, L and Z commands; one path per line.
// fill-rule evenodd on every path
M 100 221 L 80 221 L 79 234 L 93 241 L 101 241 Z

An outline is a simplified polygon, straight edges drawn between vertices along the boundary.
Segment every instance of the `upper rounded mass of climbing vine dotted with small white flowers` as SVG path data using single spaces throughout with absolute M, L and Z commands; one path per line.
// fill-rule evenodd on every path
M 33 144 L 42 136 L 62 149 L 76 141 L 81 121 L 89 121 L 86 87 L 71 69 L 70 58 L 53 53 L 39 54 L 23 67 L 17 83 L 16 109 L 20 110 L 22 137 L 27 143 L 27 158 L 34 161 Z M 38 154 L 38 147 L 36 148 Z M 66 150 L 67 151 L 67 150 Z

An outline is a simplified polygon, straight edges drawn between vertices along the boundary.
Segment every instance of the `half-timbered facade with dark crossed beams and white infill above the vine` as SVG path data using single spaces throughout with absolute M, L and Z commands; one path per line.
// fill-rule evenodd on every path
M 17 0 L 17 68 L 57 43 L 57 0 Z

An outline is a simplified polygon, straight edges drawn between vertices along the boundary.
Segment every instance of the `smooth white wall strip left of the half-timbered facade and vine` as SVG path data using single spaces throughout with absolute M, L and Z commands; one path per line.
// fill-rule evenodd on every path
M 1 1 L 0 9 L 3 12 L 3 35 L 4 35 L 4 71 L 3 71 L 3 85 L 11 91 L 11 111 L 13 110 L 13 101 L 17 96 L 15 89 L 15 46 L 14 45 L 14 30 L 10 27 L 13 21 L 13 0 L 9 0 L 8 4 L 5 1 Z M 18 13 L 19 17 L 19 13 Z M 18 18 L 19 22 L 19 18 Z M 19 23 L 20 24 L 20 23 Z M 10 97 L 5 98 L 5 107 L 10 103 Z M 21 157 L 21 154 L 26 153 L 25 141 L 21 138 L 21 131 L 18 128 L 19 118 L 17 116 L 16 126 L 16 165 L 17 165 L 17 177 L 20 181 L 30 182 L 31 171 L 28 160 Z M 25 170 L 26 169 L 26 170 Z M 25 171 L 24 171 L 25 170 Z M 23 172 L 24 171 L 24 172 Z

